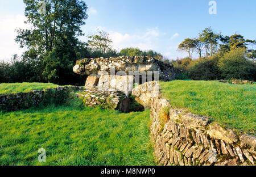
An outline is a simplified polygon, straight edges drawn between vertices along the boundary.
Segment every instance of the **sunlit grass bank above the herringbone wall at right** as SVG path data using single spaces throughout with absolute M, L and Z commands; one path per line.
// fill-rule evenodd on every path
M 186 108 L 227 127 L 255 134 L 256 85 L 218 81 L 172 81 L 160 85 L 173 107 Z

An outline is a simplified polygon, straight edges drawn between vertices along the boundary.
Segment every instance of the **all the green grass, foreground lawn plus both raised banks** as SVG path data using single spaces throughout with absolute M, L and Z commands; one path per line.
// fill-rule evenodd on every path
M 256 86 L 217 81 L 161 82 L 171 105 L 255 134 Z M 57 87 L 1 84 L 0 94 Z M 0 165 L 155 165 L 150 111 L 120 113 L 87 108 L 78 99 L 63 106 L 0 112 Z M 46 162 L 38 150 L 46 149 Z

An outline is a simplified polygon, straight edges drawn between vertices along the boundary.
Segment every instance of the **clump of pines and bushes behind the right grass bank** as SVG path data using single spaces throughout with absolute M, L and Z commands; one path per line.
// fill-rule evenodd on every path
M 223 36 L 206 28 L 199 37 L 185 39 L 178 49 L 188 53 L 187 58 L 172 63 L 182 71 L 178 79 L 214 80 L 249 79 L 256 81 L 255 40 L 242 35 Z M 197 59 L 192 60 L 193 53 Z

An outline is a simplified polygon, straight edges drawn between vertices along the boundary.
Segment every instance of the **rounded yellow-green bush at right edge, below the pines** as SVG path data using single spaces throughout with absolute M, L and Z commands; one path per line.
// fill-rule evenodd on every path
M 246 58 L 245 49 L 234 49 L 226 53 L 219 62 L 221 76 L 224 79 L 255 80 L 256 65 Z

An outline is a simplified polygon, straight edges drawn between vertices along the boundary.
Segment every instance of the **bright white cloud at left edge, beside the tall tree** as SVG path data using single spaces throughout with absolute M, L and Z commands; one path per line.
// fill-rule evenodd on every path
M 19 44 L 15 42 L 16 32 L 18 28 L 30 28 L 28 24 L 24 24 L 26 17 L 24 15 L 2 15 L 0 16 L 0 60 L 10 60 L 13 54 L 22 54 L 24 50 L 19 48 Z

